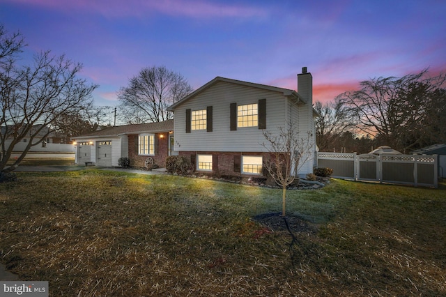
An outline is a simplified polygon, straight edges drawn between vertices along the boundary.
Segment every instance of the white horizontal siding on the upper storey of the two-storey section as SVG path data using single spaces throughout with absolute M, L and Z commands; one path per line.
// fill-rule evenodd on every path
M 197 94 L 175 109 L 175 150 L 176 151 L 266 151 L 262 130 L 257 127 L 230 130 L 231 103 L 252 104 L 266 99 L 266 130 L 275 132 L 286 123 L 287 99 L 282 93 L 264 89 L 217 82 L 209 89 Z M 213 106 L 213 132 L 192 130 L 185 132 L 185 110 L 204 109 Z

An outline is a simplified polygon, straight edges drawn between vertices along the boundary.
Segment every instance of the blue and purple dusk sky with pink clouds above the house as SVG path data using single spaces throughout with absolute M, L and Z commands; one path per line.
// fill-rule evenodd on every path
M 446 72 L 445 0 L 0 0 L 0 23 L 29 56 L 82 63 L 95 105 L 151 66 L 194 89 L 222 76 L 293 90 L 306 66 L 321 102 L 372 77 Z

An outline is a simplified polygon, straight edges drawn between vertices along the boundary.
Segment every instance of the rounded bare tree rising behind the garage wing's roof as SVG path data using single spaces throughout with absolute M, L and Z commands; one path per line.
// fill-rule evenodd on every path
M 121 88 L 121 117 L 127 123 L 152 123 L 172 119 L 167 107 L 192 91 L 186 79 L 164 66 L 143 68 Z

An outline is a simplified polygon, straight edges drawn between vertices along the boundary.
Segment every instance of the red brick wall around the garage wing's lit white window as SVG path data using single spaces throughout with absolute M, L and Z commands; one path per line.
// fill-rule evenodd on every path
M 155 155 L 138 155 L 138 135 L 128 135 L 128 158 L 131 167 L 144 167 L 148 157 L 153 158 L 155 165 L 166 166 L 169 155 L 169 133 L 155 133 Z

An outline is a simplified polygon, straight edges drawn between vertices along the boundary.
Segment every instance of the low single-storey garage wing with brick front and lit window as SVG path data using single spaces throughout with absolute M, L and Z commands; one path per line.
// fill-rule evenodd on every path
M 104 128 L 75 137 L 77 164 L 118 166 L 119 158 L 129 158 L 132 167 L 148 164 L 165 166 L 168 155 L 173 155 L 174 121 L 121 125 Z

